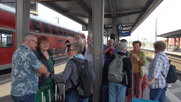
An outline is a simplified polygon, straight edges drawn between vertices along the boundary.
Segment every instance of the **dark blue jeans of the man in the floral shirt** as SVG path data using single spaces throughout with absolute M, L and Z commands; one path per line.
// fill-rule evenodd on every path
M 11 98 L 14 102 L 35 102 L 35 94 L 28 94 L 24 96 L 13 96 Z

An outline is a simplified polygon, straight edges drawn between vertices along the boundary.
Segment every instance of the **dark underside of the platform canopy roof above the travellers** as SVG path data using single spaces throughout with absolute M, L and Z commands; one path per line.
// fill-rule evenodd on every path
M 111 31 L 112 18 L 116 17 L 117 25 L 122 25 L 123 30 L 133 32 L 162 1 L 105 0 L 104 28 Z M 38 2 L 82 25 L 88 25 L 88 18 L 92 17 L 92 0 L 38 0 Z

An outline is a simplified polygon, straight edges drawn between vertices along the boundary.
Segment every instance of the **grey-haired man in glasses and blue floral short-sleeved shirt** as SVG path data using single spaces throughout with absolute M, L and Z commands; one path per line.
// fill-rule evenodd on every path
M 32 52 L 37 39 L 32 34 L 23 38 L 23 44 L 14 52 L 11 72 L 11 97 L 14 102 L 35 102 L 38 77 L 41 73 L 48 77 L 47 68 Z

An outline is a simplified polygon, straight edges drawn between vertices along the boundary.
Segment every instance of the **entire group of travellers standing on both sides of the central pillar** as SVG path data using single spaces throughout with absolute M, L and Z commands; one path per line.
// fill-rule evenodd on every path
M 42 102 L 40 89 L 50 86 L 51 100 L 54 100 L 54 80 L 65 82 L 66 102 L 88 102 L 89 98 L 80 98 L 75 90 L 70 89 L 78 84 L 79 73 L 76 64 L 71 59 L 79 62 L 88 60 L 88 70 L 91 75 L 91 82 L 95 79 L 93 71 L 92 56 L 92 34 L 88 35 L 87 48 L 80 41 L 79 35 L 75 36 L 74 42 L 66 41 L 66 56 L 68 62 L 62 74 L 54 74 L 55 61 L 49 49 L 49 40 L 45 36 L 36 38 L 27 34 L 23 38 L 23 44 L 14 52 L 12 57 L 12 82 L 11 97 L 14 102 Z M 104 46 L 104 66 L 102 74 L 102 102 L 125 102 L 126 91 L 130 90 L 134 98 L 136 85 L 136 97 L 141 98 L 142 81 L 144 75 L 143 66 L 146 64 L 146 55 L 141 51 L 141 42 L 133 42 L 133 50 L 127 50 L 127 41 L 122 40 L 116 46 L 114 40 L 110 39 L 108 46 Z M 164 53 L 166 44 L 157 41 L 154 44 L 156 56 L 150 63 L 147 85 L 150 88 L 150 99 L 166 102 L 165 92 L 167 84 L 165 77 L 169 69 L 169 59 Z M 127 56 L 123 61 L 123 71 L 126 72 L 122 82 L 115 83 L 108 81 L 110 63 L 115 59 L 115 54 Z M 44 91 L 46 102 L 48 102 L 48 91 Z

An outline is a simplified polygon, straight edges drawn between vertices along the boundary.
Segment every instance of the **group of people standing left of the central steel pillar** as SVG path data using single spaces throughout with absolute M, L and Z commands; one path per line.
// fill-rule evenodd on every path
M 91 40 L 89 39 L 88 42 L 91 42 Z M 73 87 L 72 82 L 77 85 L 79 80 L 77 66 L 71 59 L 74 58 L 77 61 L 84 62 L 84 57 L 86 57 L 90 60 L 89 51 L 85 53 L 86 48 L 81 42 L 80 35 L 76 35 L 72 43 L 68 41 L 66 43 L 69 44 L 67 44 L 66 49 L 68 62 L 65 70 L 62 74 L 54 74 L 55 61 L 49 49 L 50 43 L 48 38 L 46 36 L 36 38 L 32 34 L 26 34 L 23 37 L 23 44 L 14 52 L 12 57 L 11 97 L 14 102 L 42 102 L 40 90 L 45 86 L 50 86 L 51 101 L 53 101 L 54 80 L 66 83 L 66 102 L 88 102 L 89 98 L 82 99 L 75 90 L 68 90 Z M 88 48 L 91 49 L 89 46 Z M 84 53 L 85 56 L 83 56 Z M 93 83 L 95 74 L 92 63 L 89 62 L 88 70 Z M 44 91 L 44 95 L 46 102 L 48 102 L 47 90 Z

